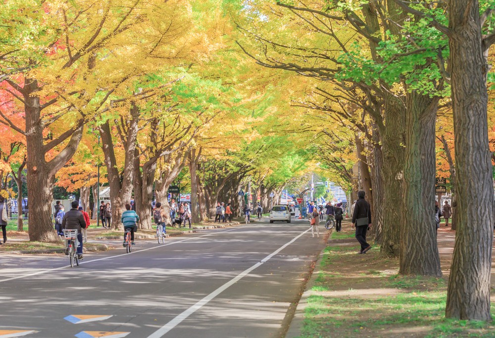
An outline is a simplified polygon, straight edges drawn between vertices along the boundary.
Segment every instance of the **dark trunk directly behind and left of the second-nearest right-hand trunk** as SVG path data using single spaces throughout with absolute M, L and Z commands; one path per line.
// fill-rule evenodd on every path
M 384 217 L 382 246 L 386 255 L 398 256 L 403 226 L 402 176 L 404 169 L 404 108 L 402 102 L 388 97 L 385 104 L 385 128 L 382 135 Z

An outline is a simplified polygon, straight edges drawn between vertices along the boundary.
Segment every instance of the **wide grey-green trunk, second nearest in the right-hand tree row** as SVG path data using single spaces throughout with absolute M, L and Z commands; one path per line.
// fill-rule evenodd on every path
M 405 225 L 399 274 L 442 277 L 435 223 L 435 118 L 438 98 L 406 94 Z

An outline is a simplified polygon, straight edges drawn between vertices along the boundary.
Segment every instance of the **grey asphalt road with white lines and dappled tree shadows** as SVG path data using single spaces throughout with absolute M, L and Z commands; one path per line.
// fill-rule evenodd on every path
M 76 268 L 61 255 L 1 255 L 0 338 L 283 337 L 325 245 L 323 226 L 320 238 L 308 230 L 264 221 L 142 240 Z

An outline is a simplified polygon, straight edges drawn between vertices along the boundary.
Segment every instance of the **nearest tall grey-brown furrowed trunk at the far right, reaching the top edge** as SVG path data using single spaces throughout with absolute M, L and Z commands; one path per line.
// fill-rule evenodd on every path
M 448 9 L 458 214 L 446 317 L 491 321 L 494 190 L 487 122 L 489 46 L 482 43 L 478 1 L 449 0 Z

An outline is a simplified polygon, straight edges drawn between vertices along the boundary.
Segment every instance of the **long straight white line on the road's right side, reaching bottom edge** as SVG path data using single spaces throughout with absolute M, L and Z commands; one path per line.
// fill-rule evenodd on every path
M 309 229 L 301 232 L 299 235 L 297 235 L 296 237 L 294 237 L 290 242 L 282 245 L 280 248 L 278 248 L 277 250 L 275 250 L 274 252 L 272 252 L 271 254 L 269 254 L 268 256 L 266 256 L 265 258 L 263 258 L 258 263 L 254 264 L 249 269 L 243 271 L 242 273 L 240 273 L 239 275 L 237 275 L 236 277 L 234 277 L 233 279 L 231 279 L 229 282 L 226 282 L 225 284 L 223 284 L 222 286 L 220 286 L 219 288 L 217 288 L 215 291 L 211 292 L 210 294 L 208 294 L 207 296 L 205 296 L 203 299 L 199 300 L 196 304 L 194 304 L 193 306 L 191 306 L 189 309 L 185 310 L 184 312 L 182 312 L 181 314 L 179 314 L 177 317 L 175 317 L 174 319 L 172 319 L 170 322 L 168 322 L 167 324 L 163 325 L 157 331 L 155 331 L 154 333 L 152 333 L 151 335 L 149 335 L 148 338 L 161 338 L 161 337 L 165 336 L 170 330 L 172 330 L 173 328 L 175 328 L 183 320 L 185 320 L 186 318 L 188 318 L 189 316 L 191 316 L 193 313 L 195 313 L 196 311 L 198 311 L 201 307 L 203 307 L 204 305 L 206 305 L 210 300 L 214 299 L 220 293 L 222 293 L 227 288 L 229 288 L 230 286 L 232 286 L 233 284 L 235 284 L 236 282 L 238 282 L 240 279 L 242 279 L 243 277 L 245 277 L 246 275 L 248 275 L 251 271 L 253 271 L 257 267 L 259 267 L 259 266 L 263 265 L 264 263 L 266 263 L 268 260 L 270 260 L 270 258 L 272 258 L 276 254 L 278 254 L 280 251 L 284 250 L 286 247 L 288 247 L 289 245 L 291 245 L 292 243 L 294 243 L 300 236 L 302 236 L 303 234 L 305 234 L 308 231 L 309 231 Z

